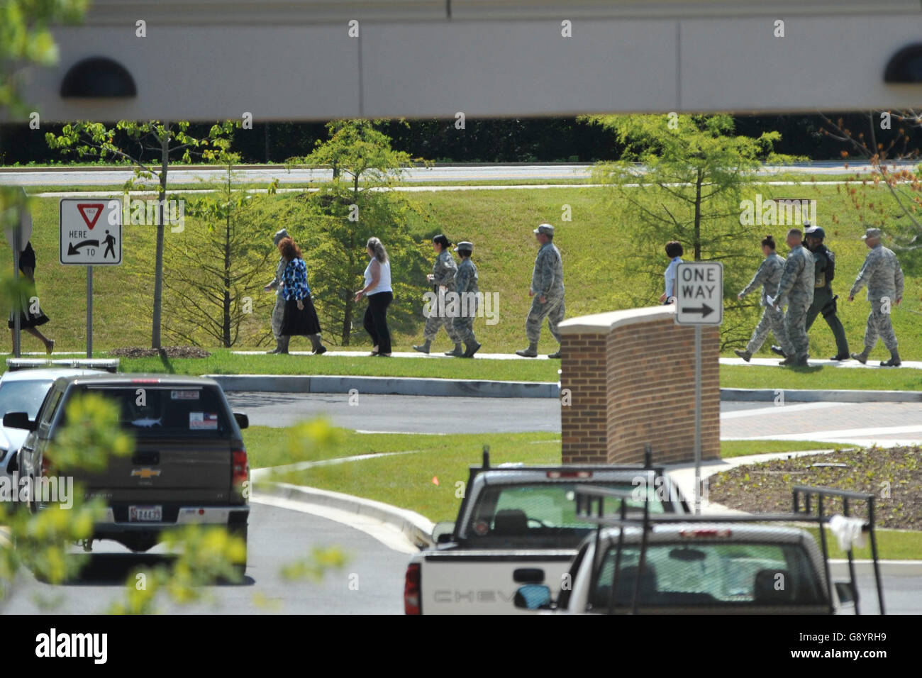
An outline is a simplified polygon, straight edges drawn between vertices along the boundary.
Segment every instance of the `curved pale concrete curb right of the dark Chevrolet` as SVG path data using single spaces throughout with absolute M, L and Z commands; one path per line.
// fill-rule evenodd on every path
M 418 548 L 424 549 L 434 545 L 432 528 L 435 524 L 425 516 L 420 516 L 408 508 L 400 508 L 376 502 L 373 499 L 319 490 L 315 487 L 292 485 L 288 482 L 254 481 L 254 490 L 271 496 L 289 499 L 303 504 L 314 504 L 338 508 L 360 516 L 372 517 L 403 532 L 404 536 Z

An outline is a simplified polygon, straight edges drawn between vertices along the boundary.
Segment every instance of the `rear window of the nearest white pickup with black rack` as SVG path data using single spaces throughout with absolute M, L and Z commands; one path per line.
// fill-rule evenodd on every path
M 616 548 L 609 548 L 591 598 L 609 608 Z M 640 548 L 621 550 L 616 607 L 630 608 Z M 730 607 L 821 605 L 825 594 L 810 559 L 798 544 L 688 541 L 651 544 L 640 576 L 638 606 Z

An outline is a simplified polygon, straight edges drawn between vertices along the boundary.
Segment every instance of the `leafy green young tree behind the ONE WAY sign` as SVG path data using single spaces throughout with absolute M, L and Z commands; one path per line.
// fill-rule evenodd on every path
M 621 161 L 601 162 L 599 183 L 611 184 L 621 219 L 630 220 L 636 237 L 626 266 L 648 280 L 633 292 L 635 303 L 650 303 L 662 291 L 668 264 L 663 245 L 677 240 L 686 260 L 723 261 L 724 346 L 748 339 L 752 302 L 739 302 L 758 266 L 758 239 L 741 219 L 744 189 L 751 189 L 762 161 L 789 158 L 774 154 L 780 136 L 735 136 L 729 115 L 592 115 L 582 118 L 611 130 L 624 147 Z M 760 227 L 764 228 L 764 227 Z M 723 347 L 722 347 L 723 348 Z

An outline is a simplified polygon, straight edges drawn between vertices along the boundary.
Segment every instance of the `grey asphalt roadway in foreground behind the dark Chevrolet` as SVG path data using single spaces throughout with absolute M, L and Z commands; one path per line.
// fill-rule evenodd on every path
M 326 574 L 321 582 L 291 581 L 281 576 L 282 565 L 300 561 L 314 546 L 334 545 L 349 556 L 349 562 L 343 569 Z M 0 612 L 104 613 L 113 602 L 124 600 L 124 583 L 138 565 L 158 565 L 170 558 L 162 546 L 150 554 L 137 555 L 114 541 L 97 541 L 92 561 L 77 581 L 53 586 L 26 573 Z M 173 614 L 402 614 L 408 562 L 407 553 L 394 551 L 358 529 L 300 511 L 254 503 L 244 582 L 207 587 L 202 592 L 210 601 L 176 605 L 162 599 L 159 608 Z

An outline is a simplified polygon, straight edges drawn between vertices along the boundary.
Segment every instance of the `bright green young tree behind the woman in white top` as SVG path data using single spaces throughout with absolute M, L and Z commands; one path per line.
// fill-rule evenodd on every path
M 301 219 L 310 224 L 309 238 L 301 242 L 317 298 L 318 313 L 338 328 L 340 343 L 349 345 L 357 320 L 355 291 L 368 264 L 365 243 L 381 238 L 391 257 L 394 303 L 388 310 L 394 328 L 418 322 L 413 302 L 418 285 L 408 280 L 424 276 L 425 258 L 409 228 L 420 211 L 393 190 L 403 168 L 413 159 L 391 149 L 390 139 L 370 120 L 329 123 L 330 138 L 318 142 L 306 158 L 289 164 L 331 167 L 335 178 L 321 184 L 316 194 L 302 200 Z

